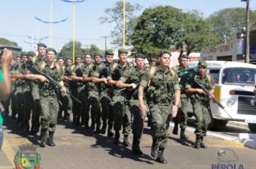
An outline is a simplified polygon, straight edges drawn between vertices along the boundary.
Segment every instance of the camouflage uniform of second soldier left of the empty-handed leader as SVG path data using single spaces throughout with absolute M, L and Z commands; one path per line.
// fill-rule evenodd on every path
M 118 81 L 119 78 L 122 77 L 124 71 L 132 66 L 133 64 L 129 62 L 126 62 L 124 67 L 122 67 L 119 62 L 112 64 L 107 79 Z M 116 90 L 119 90 L 119 88 L 116 87 Z M 126 100 L 125 91 L 114 93 L 112 105 L 114 109 L 114 130 L 116 132 L 115 144 L 119 143 L 119 130 L 122 129 L 122 125 L 124 137 L 128 137 L 129 132 L 131 132 L 132 114 L 129 111 L 128 102 L 129 100 Z

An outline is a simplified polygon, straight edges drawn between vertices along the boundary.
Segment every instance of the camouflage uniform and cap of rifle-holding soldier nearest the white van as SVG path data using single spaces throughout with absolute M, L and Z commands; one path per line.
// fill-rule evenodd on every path
M 199 66 L 207 67 L 206 62 L 201 61 L 198 63 Z M 213 80 L 208 74 L 204 74 L 203 77 L 198 74 L 198 72 L 194 72 L 190 79 L 188 79 L 188 83 L 186 84 L 186 89 L 189 88 L 198 88 L 201 87 L 196 84 L 199 83 L 206 87 L 207 90 L 214 89 Z M 206 100 L 206 96 L 199 94 L 198 92 L 194 92 L 190 95 L 191 103 L 193 105 L 193 113 L 196 117 L 196 143 L 203 143 L 204 136 L 206 136 L 207 127 L 209 125 L 209 118 L 210 118 L 210 105 L 209 100 Z M 199 145 L 200 146 L 200 145 Z M 201 145 L 204 147 L 204 144 Z

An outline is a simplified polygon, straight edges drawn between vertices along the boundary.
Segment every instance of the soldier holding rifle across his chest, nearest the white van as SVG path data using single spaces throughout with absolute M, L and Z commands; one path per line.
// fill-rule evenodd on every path
M 206 67 L 207 63 L 204 60 L 200 60 L 197 72 L 188 79 L 186 84 L 186 93 L 190 95 L 193 113 L 196 117 L 195 148 L 207 148 L 203 141 L 209 125 L 211 107 L 209 105 L 209 97 L 206 97 L 206 93 L 199 84 L 206 87 L 209 92 L 214 93 L 214 83 L 209 74 L 206 74 Z

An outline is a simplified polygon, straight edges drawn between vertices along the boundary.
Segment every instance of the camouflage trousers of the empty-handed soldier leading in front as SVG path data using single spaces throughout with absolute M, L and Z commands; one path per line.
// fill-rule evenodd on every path
M 168 123 L 170 122 L 170 105 L 157 105 L 150 102 L 152 147 L 166 148 L 168 142 Z

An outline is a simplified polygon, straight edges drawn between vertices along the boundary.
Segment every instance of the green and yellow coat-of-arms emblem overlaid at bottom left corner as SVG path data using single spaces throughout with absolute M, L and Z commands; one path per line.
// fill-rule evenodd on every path
M 35 150 L 36 145 L 24 144 L 19 145 L 19 151 L 14 157 L 16 169 L 40 169 L 41 156 Z

